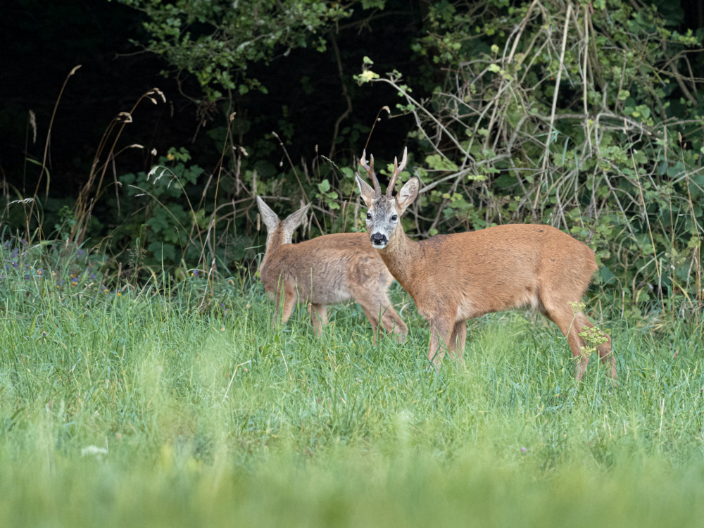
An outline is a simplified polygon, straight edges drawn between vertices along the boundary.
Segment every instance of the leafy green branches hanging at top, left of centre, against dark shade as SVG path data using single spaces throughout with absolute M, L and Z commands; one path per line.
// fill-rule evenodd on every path
M 266 92 L 246 75 L 249 63 L 268 63 L 298 47 L 325 51 L 325 32 L 351 14 L 320 0 L 120 1 L 146 13 L 147 48 L 164 56 L 177 75 L 195 75 L 210 99 L 228 90 Z

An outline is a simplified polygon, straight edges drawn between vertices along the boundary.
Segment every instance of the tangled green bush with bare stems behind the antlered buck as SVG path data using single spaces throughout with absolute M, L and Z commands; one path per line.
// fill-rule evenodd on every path
M 701 34 L 627 1 L 506 4 L 430 8 L 415 50 L 449 73 L 429 99 L 397 73 L 358 77 L 392 84 L 416 118 L 422 233 L 549 222 L 588 241 L 629 301 L 696 308 L 704 105 L 680 70 Z

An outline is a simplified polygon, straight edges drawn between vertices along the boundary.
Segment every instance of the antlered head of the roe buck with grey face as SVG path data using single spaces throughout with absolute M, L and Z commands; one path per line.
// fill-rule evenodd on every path
M 401 226 L 401 215 L 406 210 L 415 197 L 418 196 L 420 182 L 417 177 L 412 177 L 406 182 L 401 191 L 394 196 L 394 184 L 398 174 L 406 168 L 408 149 L 403 149 L 403 159 L 398 164 L 398 159 L 394 158 L 394 173 L 391 175 L 389 186 L 386 187 L 386 194 L 382 195 L 379 181 L 374 173 L 374 156 L 370 156 L 370 163 L 367 165 L 366 151 L 362 153 L 360 165 L 364 167 L 374 184 L 374 189 L 362 180 L 359 173 L 356 175 L 357 186 L 364 203 L 367 204 L 367 233 L 376 249 L 384 249 L 389 241 L 396 237 L 399 231 L 403 231 Z

